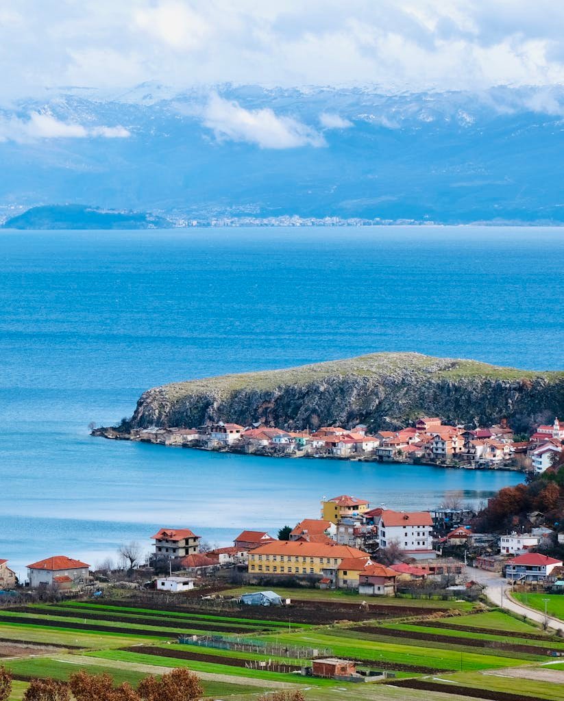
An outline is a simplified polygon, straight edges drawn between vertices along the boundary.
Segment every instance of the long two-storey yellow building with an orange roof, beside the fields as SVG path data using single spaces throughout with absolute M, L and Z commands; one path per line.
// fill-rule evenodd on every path
M 268 574 L 323 574 L 336 570 L 344 559 L 370 557 L 349 545 L 308 543 L 304 540 L 274 540 L 249 552 L 249 572 Z

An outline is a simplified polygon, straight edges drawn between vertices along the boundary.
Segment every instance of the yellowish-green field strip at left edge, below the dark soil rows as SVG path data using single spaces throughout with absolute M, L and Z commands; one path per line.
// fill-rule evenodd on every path
M 0 638 L 23 640 L 30 643 L 80 646 L 82 648 L 121 648 L 135 645 L 140 637 L 106 632 L 84 632 L 75 629 L 53 628 L 45 625 L 20 625 L 0 622 Z M 145 637 L 144 640 L 162 642 L 159 637 Z

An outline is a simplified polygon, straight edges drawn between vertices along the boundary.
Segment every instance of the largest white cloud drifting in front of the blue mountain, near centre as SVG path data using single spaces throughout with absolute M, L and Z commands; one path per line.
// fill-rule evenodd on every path
M 261 149 L 325 146 L 321 134 L 293 117 L 277 116 L 269 108 L 245 109 L 215 93 L 203 109 L 202 121 L 219 141 L 243 141 Z

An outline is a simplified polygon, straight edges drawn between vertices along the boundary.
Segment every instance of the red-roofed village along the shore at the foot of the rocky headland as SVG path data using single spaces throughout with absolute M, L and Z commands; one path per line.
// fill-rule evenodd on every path
M 100 435 L 263 456 L 430 463 L 541 473 L 563 449 L 564 421 L 555 418 L 551 424 L 537 426 L 532 435 L 516 435 L 505 419 L 495 426 L 469 429 L 428 416 L 418 418 L 413 426 L 374 434 L 368 433 L 364 425 L 351 429 L 323 426 L 313 432 L 296 432 L 259 423 L 240 426 L 220 422 L 200 428 L 134 428 L 126 435 L 104 429 Z

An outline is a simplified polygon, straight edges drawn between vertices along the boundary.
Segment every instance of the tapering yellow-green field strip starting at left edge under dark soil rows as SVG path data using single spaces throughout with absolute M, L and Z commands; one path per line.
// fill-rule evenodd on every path
M 17 631 L 14 632 L 14 631 Z M 13 640 L 29 640 L 29 641 L 35 641 L 35 638 L 29 637 L 29 632 L 34 632 L 34 631 L 41 631 L 44 632 L 45 634 L 41 636 L 41 641 L 49 644 L 54 643 L 54 644 L 59 644 L 58 642 L 58 634 L 59 633 L 67 633 L 69 636 L 65 639 L 65 642 L 67 645 L 83 645 L 83 641 L 86 639 L 90 639 L 93 642 L 92 645 L 88 645 L 85 647 L 91 647 L 91 648 L 101 648 L 101 647 L 114 647 L 114 646 L 119 646 L 122 647 L 123 645 L 130 644 L 130 645 L 135 645 L 136 643 L 139 642 L 140 639 L 143 640 L 154 640 L 155 642 L 162 642 L 163 638 L 166 638 L 166 636 L 163 635 L 141 635 L 141 634 L 134 634 L 135 637 L 129 637 L 127 635 L 124 635 L 123 633 L 112 633 L 106 630 L 93 630 L 93 631 L 86 631 L 83 632 L 82 630 L 72 628 L 72 627 L 53 627 L 51 625 L 41 625 L 39 623 L 27 623 L 25 621 L 15 621 L 13 623 L 8 623 L 1 621 L 0 622 L 0 638 L 6 638 L 9 637 L 10 639 Z M 108 642 L 112 641 L 111 645 L 102 645 L 102 639 L 108 638 Z M 172 636 L 171 636 L 172 637 Z M 76 642 L 73 642 L 73 639 L 76 640 Z M 39 640 L 39 639 L 38 639 Z M 128 641 L 128 642 L 123 642 L 123 641 Z M 63 643 L 64 644 L 64 643 Z

